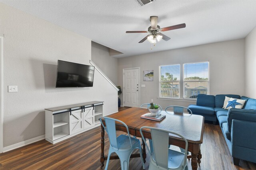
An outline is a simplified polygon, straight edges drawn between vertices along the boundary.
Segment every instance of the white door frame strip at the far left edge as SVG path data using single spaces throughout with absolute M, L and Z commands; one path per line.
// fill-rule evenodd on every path
M 4 149 L 4 146 L 3 146 L 3 142 L 4 142 L 4 139 L 3 139 L 3 124 L 4 124 L 4 102 L 3 102 L 3 99 L 4 99 L 4 94 L 3 94 L 3 72 L 4 72 L 4 50 L 3 50 L 3 39 L 4 37 L 0 36 L 0 99 L 1 99 L 1 102 L 0 102 L 0 153 L 3 152 L 3 149 Z

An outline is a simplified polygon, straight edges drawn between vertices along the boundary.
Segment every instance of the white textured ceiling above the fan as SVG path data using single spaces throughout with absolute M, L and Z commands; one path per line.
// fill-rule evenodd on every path
M 256 26 L 256 0 L 156 0 L 140 6 L 136 0 L 1 0 L 4 4 L 84 35 L 128 57 L 246 37 Z M 186 28 L 162 32 L 151 50 L 148 41 L 150 16 L 168 27 L 186 23 Z

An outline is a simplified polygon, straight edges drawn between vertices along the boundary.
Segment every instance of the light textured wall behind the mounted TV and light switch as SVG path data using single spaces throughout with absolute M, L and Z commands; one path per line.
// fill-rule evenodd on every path
M 118 111 L 117 91 L 97 71 L 92 88 L 55 88 L 57 60 L 90 64 L 90 39 L 0 5 L 4 147 L 44 135 L 44 108 L 100 100 L 105 115 Z M 8 85 L 17 85 L 18 92 L 8 93 Z

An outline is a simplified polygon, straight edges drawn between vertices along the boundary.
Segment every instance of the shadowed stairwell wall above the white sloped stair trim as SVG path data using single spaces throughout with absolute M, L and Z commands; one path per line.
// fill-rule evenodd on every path
M 117 86 L 117 59 L 109 55 L 109 48 L 92 41 L 92 61 Z

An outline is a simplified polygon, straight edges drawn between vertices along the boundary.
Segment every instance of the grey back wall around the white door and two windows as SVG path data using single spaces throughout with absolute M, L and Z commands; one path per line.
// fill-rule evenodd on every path
M 182 80 L 182 64 L 201 61 L 210 62 L 210 94 L 244 95 L 244 39 L 118 59 L 118 84 L 122 84 L 123 68 L 140 67 L 140 84 L 146 85 L 140 88 L 141 104 L 153 99 L 155 103 L 164 108 L 169 105 L 188 106 L 194 103 L 157 99 L 159 96 L 159 66 L 180 64 L 180 79 Z M 143 70 L 154 70 L 154 81 L 144 82 Z M 182 89 L 180 93 L 182 98 Z

